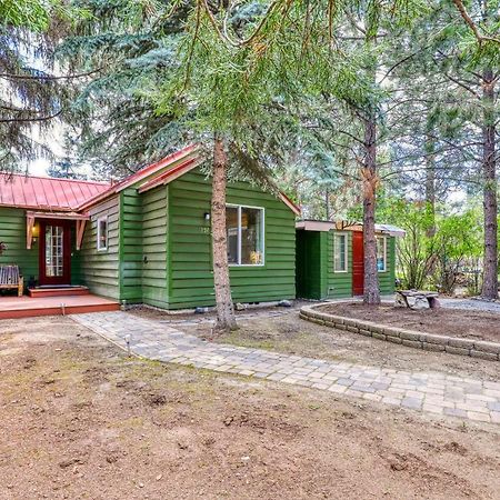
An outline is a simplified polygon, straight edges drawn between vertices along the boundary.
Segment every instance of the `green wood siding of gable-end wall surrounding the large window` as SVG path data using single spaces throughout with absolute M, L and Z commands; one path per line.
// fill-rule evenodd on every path
M 199 169 L 169 186 L 169 308 L 213 306 L 211 184 Z M 270 193 L 249 183 L 228 186 L 228 203 L 264 209 L 264 264 L 231 267 L 234 301 L 264 302 L 296 297 L 294 214 Z

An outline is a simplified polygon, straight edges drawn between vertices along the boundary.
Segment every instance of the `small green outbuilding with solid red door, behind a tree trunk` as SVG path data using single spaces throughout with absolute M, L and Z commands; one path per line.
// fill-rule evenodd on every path
M 380 292 L 394 291 L 396 237 L 404 231 L 376 226 Z M 297 297 L 342 299 L 363 293 L 363 236 L 359 224 L 297 222 Z

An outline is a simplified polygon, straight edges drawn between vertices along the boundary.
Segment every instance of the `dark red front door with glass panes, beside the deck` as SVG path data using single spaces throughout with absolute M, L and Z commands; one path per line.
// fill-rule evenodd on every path
M 71 284 L 71 226 L 64 220 L 40 222 L 40 284 Z

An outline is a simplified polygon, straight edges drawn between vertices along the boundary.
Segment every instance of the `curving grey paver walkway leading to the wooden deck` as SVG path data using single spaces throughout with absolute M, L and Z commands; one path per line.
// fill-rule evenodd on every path
M 412 372 L 302 358 L 206 342 L 176 328 L 127 312 L 72 319 L 144 358 L 252 376 L 441 416 L 500 423 L 500 382 L 438 372 Z

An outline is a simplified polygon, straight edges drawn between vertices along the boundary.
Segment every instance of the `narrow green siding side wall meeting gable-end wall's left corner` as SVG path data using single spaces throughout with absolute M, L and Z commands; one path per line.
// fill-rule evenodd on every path
M 169 307 L 167 269 L 168 187 L 142 194 L 142 301 Z

